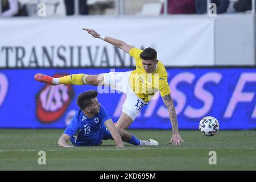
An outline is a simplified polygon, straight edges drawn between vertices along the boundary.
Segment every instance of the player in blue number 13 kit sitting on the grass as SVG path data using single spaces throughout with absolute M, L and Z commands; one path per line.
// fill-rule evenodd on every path
M 98 102 L 97 96 L 96 90 L 89 90 L 77 97 L 80 109 L 59 138 L 60 147 L 73 147 L 68 144 L 69 140 L 74 146 L 99 146 L 102 140 L 108 139 L 115 140 L 117 147 L 123 147 L 122 141 L 138 146 L 158 145 L 156 140 L 138 140 L 126 130 L 115 127 L 105 108 Z

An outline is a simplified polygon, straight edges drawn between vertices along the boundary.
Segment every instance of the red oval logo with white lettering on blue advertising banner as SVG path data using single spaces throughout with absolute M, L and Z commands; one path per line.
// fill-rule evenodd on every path
M 60 77 L 64 75 L 54 75 Z M 72 85 L 46 85 L 36 98 L 36 114 L 43 123 L 52 123 L 67 110 L 73 99 Z

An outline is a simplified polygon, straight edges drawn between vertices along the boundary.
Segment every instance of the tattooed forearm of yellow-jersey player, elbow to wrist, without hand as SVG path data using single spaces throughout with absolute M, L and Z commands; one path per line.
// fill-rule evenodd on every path
M 177 115 L 176 110 L 174 107 L 174 101 L 172 101 L 171 94 L 167 94 L 166 96 L 162 97 L 164 105 L 168 109 L 169 117 L 172 124 L 172 132 L 179 133 L 178 124 L 177 124 Z

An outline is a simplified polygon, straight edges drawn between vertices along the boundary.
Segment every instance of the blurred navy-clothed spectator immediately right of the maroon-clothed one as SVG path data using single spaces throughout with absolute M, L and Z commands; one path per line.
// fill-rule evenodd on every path
M 226 13 L 229 7 L 229 0 L 211 0 L 211 3 L 215 3 L 217 6 L 217 14 Z M 207 13 L 207 0 L 196 0 L 196 13 Z

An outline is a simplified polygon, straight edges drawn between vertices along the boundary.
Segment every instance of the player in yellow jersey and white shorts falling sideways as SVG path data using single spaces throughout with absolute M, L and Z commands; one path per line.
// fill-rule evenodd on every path
M 157 59 L 155 49 L 149 47 L 141 50 L 129 46 L 121 40 L 102 36 L 92 29 L 83 28 L 83 30 L 87 31 L 94 38 L 105 40 L 113 46 L 129 53 L 136 61 L 136 69 L 128 72 L 110 72 L 100 75 L 86 75 L 84 73 L 73 74 L 60 78 L 53 78 L 38 73 L 35 75 L 35 79 L 51 85 L 105 85 L 126 93 L 127 97 L 122 107 L 122 114 L 115 125 L 121 129 L 127 129 L 139 115 L 142 107 L 159 91 L 164 105 L 168 108 L 172 125 L 172 137 L 169 144 L 173 143 L 175 146 L 180 145 L 183 139 L 181 139 L 179 135 L 177 115 L 167 81 L 166 68 L 164 68 L 164 65 Z

